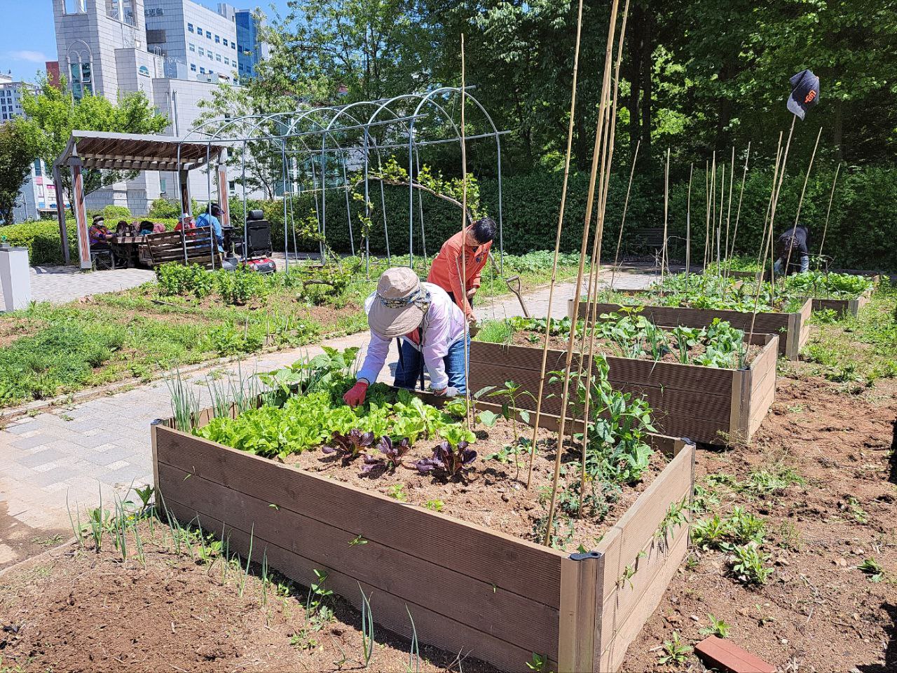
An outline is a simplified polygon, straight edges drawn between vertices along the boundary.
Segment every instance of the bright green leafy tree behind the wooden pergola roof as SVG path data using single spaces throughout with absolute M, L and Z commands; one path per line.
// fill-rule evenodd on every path
M 74 130 L 157 134 L 169 125 L 168 118 L 155 111 L 143 92 L 119 95 L 116 102 L 92 95 L 74 100 L 65 86 L 57 88 L 46 81 L 40 83 L 36 94 L 25 93 L 22 109 L 26 116 L 22 123 L 30 128 L 38 155 L 48 166 L 63 153 Z M 118 170 L 86 170 L 84 193 L 134 176 L 133 172 Z M 70 171 L 63 170 L 61 178 L 69 201 L 74 204 Z

